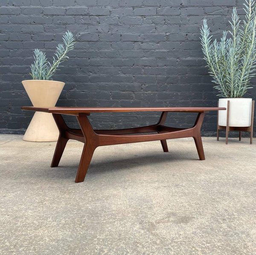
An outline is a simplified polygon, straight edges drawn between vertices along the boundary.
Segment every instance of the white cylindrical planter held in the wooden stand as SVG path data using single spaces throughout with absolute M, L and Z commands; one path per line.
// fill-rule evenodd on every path
M 230 101 L 229 124 L 228 126 L 250 126 L 251 122 L 251 98 L 221 98 L 219 107 L 227 108 L 227 101 Z M 218 125 L 227 126 L 227 110 L 218 112 Z

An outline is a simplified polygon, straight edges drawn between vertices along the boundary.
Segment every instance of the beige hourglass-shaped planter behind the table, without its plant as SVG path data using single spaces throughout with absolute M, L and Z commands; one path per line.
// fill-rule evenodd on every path
M 55 106 L 65 85 L 54 80 L 23 80 L 22 84 L 33 106 Z M 35 112 L 23 137 L 24 141 L 52 142 L 58 140 L 59 131 L 51 113 Z

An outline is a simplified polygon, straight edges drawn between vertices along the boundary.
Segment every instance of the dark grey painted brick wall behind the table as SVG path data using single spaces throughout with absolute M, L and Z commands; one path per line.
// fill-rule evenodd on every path
M 76 49 L 54 80 L 66 83 L 57 106 L 216 106 L 199 42 L 202 19 L 218 37 L 241 0 L 0 0 L 0 132 L 24 133 L 31 105 L 21 80 L 30 79 L 32 51 L 47 56 L 70 30 Z M 255 79 L 253 83 L 255 83 Z M 256 98 L 256 87 L 247 97 Z M 150 124 L 159 114 L 97 114 L 96 128 Z M 188 126 L 193 114 L 170 114 Z M 76 126 L 68 117 L 70 126 Z M 108 125 L 105 122 L 108 122 Z M 178 124 L 179 123 L 179 124 Z M 216 112 L 204 135 L 215 135 Z

